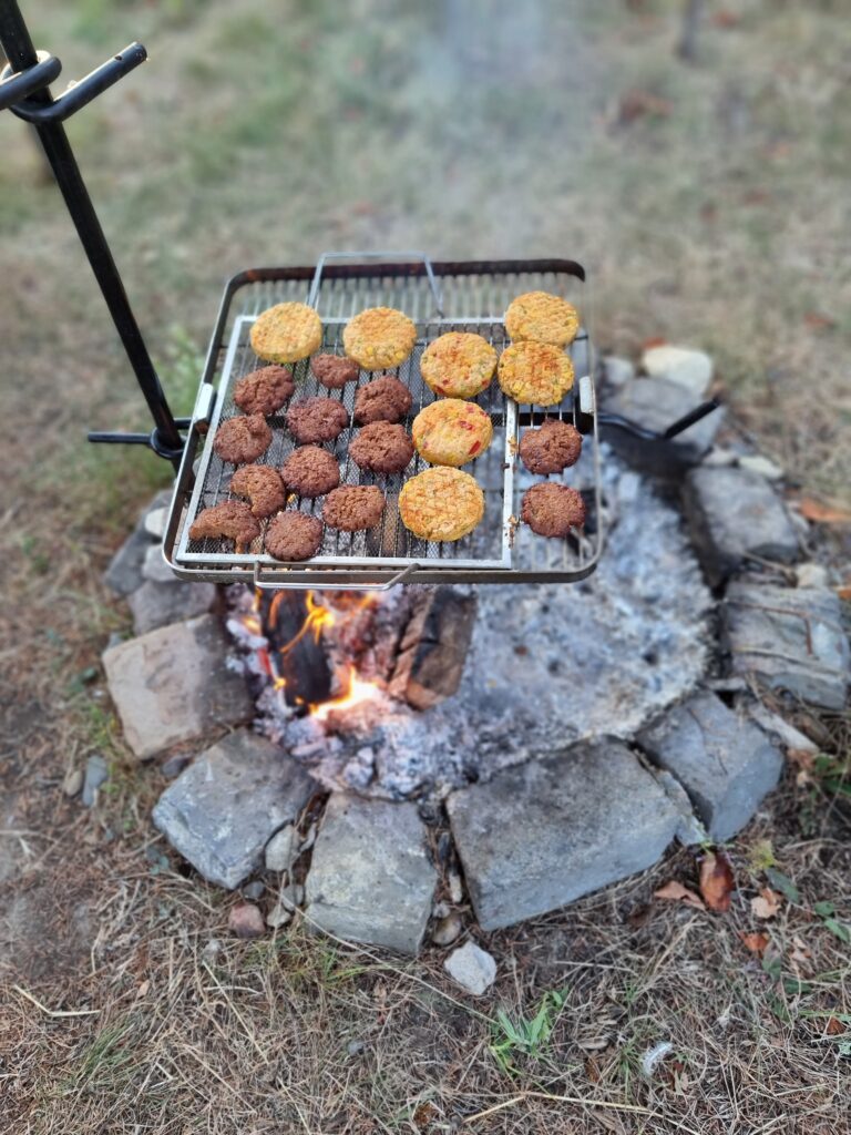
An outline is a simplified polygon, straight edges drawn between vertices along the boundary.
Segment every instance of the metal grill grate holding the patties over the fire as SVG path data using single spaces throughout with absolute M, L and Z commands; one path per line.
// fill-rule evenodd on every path
M 426 346 L 439 335 L 447 330 L 477 331 L 499 353 L 508 343 L 502 322 L 503 311 L 515 295 L 536 288 L 565 295 L 575 302 L 582 314 L 587 311 L 587 300 L 581 294 L 582 284 L 570 271 L 446 272 L 441 271 L 444 266 L 437 264 L 435 272 L 440 295 L 432 289 L 421 266 L 407 264 L 401 266 L 401 269 L 394 266 L 389 270 L 389 266 L 382 267 L 384 271 L 369 266 L 346 266 L 339 269 L 345 275 L 336 275 L 334 268 L 325 268 L 321 279 L 314 279 L 315 305 L 325 329 L 322 350 L 342 354 L 343 328 L 352 316 L 364 308 L 394 306 L 414 319 L 418 326 L 414 352 L 393 371 L 413 395 L 413 405 L 405 420 L 408 429 L 422 406 L 435 401 L 420 375 L 420 358 Z M 359 268 L 361 274 L 351 275 Z M 414 274 L 418 268 L 420 272 Z M 536 406 L 517 406 L 503 395 L 496 380 L 475 400 L 491 418 L 494 440 L 481 456 L 464 466 L 483 489 L 486 499 L 485 518 L 469 537 L 436 544 L 416 539 L 405 529 L 396 503 L 405 480 L 428 468 L 419 454 L 414 455 L 403 473 L 393 477 L 361 471 L 348 459 L 348 442 L 356 432 L 351 420 L 355 394 L 374 376 L 361 372 L 357 384 L 346 384 L 342 390 L 327 390 L 312 376 L 305 360 L 293 368 L 296 381 L 293 401 L 320 394 L 343 402 L 349 413 L 349 426 L 325 448 L 337 459 L 343 484 L 374 484 L 385 491 L 387 505 L 380 523 L 369 531 L 354 533 L 326 528 L 319 554 L 309 563 L 292 568 L 281 565 L 263 550 L 262 536 L 243 554 L 235 553 L 233 545 L 226 543 L 188 538 L 189 526 L 200 510 L 230 498 L 234 466 L 214 454 L 212 436 L 221 421 L 238 413 L 233 403 L 235 382 L 263 365 L 248 343 L 254 318 L 275 303 L 309 299 L 310 279 L 304 270 L 297 271 L 302 274 L 300 278 L 293 278 L 286 269 L 264 270 L 264 278 L 255 280 L 251 279 L 255 274 L 245 274 L 247 278 L 242 286 L 233 288 L 233 296 L 226 293 L 167 533 L 166 553 L 177 574 L 220 581 L 245 578 L 278 587 L 352 586 L 372 581 L 381 585 L 399 573 L 411 581 L 431 582 L 444 579 L 505 582 L 507 579 L 536 578 L 555 581 L 575 580 L 589 574 L 599 555 L 603 526 L 591 359 L 584 327 L 570 348 L 576 382 L 559 407 L 545 411 Z M 438 308 L 443 309 L 443 316 L 436 313 Z M 210 413 L 208 397 L 213 387 L 217 390 L 216 405 Z M 275 468 L 279 468 L 295 447 L 285 427 L 285 413 L 286 407 L 280 414 L 267 419 L 273 439 L 260 461 Z M 584 532 L 565 540 L 542 539 L 513 521 L 520 514 L 523 491 L 540 479 L 526 473 L 515 457 L 519 427 L 539 422 L 545 415 L 573 420 L 587 431 L 581 461 L 555 478 L 580 489 L 588 510 Z M 203 438 L 197 426 L 203 428 L 207 422 L 209 431 Z M 203 451 L 193 476 L 188 462 L 196 455 L 202 442 Z M 321 506 L 322 498 L 296 499 L 288 504 L 288 507 L 315 515 L 321 515 Z M 332 573 L 332 581 L 328 579 L 329 573 Z

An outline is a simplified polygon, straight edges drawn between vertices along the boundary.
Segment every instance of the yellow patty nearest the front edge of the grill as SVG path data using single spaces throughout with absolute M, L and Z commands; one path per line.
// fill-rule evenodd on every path
M 470 473 L 436 465 L 405 482 L 399 515 L 405 528 L 423 540 L 460 540 L 485 515 L 485 494 Z

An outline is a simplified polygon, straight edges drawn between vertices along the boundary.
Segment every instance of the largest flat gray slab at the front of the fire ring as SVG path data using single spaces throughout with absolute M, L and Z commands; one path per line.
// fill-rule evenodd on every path
M 447 808 L 487 931 L 643 871 L 681 824 L 665 790 L 617 741 L 504 770 L 453 792 Z

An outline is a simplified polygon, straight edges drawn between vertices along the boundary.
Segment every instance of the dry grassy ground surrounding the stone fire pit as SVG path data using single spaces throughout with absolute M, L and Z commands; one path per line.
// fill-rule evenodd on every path
M 673 0 L 24 8 L 67 77 L 149 49 L 69 133 L 176 410 L 238 269 L 325 247 L 567 255 L 593 274 L 603 348 L 710 351 L 760 447 L 848 503 L 842 0 L 707 0 L 693 64 Z M 848 1132 L 843 714 L 793 714 L 824 756 L 791 763 L 727 849 L 727 914 L 652 898 L 697 885 L 674 852 L 478 935 L 499 967 L 481 1000 L 435 949 L 399 961 L 301 923 L 228 938 L 233 898 L 150 825 L 163 781 L 128 759 L 99 664 L 129 627 L 102 569 L 167 470 L 86 446 L 145 426 L 141 400 L 11 115 L 0 153 L 0 1132 Z M 841 570 L 848 530 L 832 541 Z M 111 777 L 84 809 L 61 783 L 95 751 Z M 760 919 L 767 872 L 786 883 Z

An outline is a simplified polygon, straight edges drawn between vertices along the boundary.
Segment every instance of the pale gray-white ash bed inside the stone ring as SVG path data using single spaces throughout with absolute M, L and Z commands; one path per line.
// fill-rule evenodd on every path
M 609 532 L 596 573 L 479 587 L 454 697 L 418 712 L 379 692 L 374 712 L 346 711 L 346 734 L 329 735 L 334 715 L 294 717 L 267 686 L 258 728 L 329 787 L 391 799 L 444 796 L 580 739 L 633 737 L 703 674 L 711 598 L 675 508 L 613 454 L 603 468 Z

